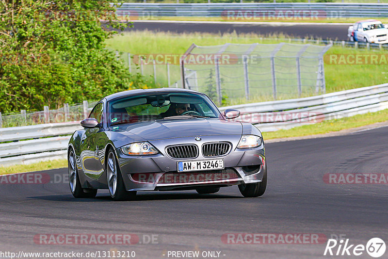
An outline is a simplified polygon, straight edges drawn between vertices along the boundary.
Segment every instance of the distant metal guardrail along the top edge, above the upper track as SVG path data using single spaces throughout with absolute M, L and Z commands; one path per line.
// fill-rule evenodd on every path
M 323 19 L 347 17 L 387 17 L 384 3 L 123 3 L 117 8 L 119 16 L 149 19 L 150 16 L 225 16 L 226 11 L 316 11 Z M 271 18 L 271 17 L 270 17 Z

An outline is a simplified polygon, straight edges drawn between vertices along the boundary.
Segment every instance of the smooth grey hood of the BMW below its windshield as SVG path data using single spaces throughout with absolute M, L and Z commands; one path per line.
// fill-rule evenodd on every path
M 218 118 L 174 118 L 121 125 L 121 130 L 144 140 L 204 135 L 241 135 L 242 124 Z

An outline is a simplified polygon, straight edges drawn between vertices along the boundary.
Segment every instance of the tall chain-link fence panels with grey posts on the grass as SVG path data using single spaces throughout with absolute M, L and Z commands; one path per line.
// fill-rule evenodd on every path
M 223 98 L 292 98 L 325 92 L 323 54 L 331 45 L 225 44 L 196 46 L 181 64 L 184 87 Z

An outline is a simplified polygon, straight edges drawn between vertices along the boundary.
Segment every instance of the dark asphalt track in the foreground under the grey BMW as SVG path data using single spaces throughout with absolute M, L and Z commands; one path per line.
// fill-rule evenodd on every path
M 386 173 L 388 128 L 266 145 L 267 192 L 243 198 L 236 186 L 218 194 L 142 192 L 114 202 L 106 191 L 75 199 L 66 169 L 45 171 L 47 184 L 0 184 L 0 251 L 135 251 L 168 258 L 168 251 L 220 251 L 220 258 L 329 258 L 320 244 L 227 244 L 225 233 L 322 233 L 349 243 L 387 243 L 387 184 L 327 184 L 326 173 Z M 54 179 L 57 178 L 57 179 Z M 35 244 L 36 234 L 134 233 L 157 244 Z M 165 254 L 165 256 L 163 256 Z M 225 255 L 225 256 L 224 256 Z M 385 254 L 387 258 L 388 251 Z M 169 257 L 171 258 L 171 257 Z M 201 257 L 200 257 L 201 258 Z M 336 258 L 343 258 L 341 256 Z M 356 258 L 347 256 L 346 258 Z M 357 258 L 371 258 L 366 252 Z

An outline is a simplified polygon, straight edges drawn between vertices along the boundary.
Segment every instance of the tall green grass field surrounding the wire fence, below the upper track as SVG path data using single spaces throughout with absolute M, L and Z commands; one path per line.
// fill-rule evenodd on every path
M 346 32 L 344 32 L 346 33 Z M 183 33 L 174 34 L 169 32 L 128 32 L 109 39 L 106 43 L 109 48 L 118 49 L 123 52 L 130 52 L 133 54 L 146 53 L 171 53 L 182 54 L 190 45 L 195 43 L 198 46 L 212 46 L 223 45 L 225 43 L 237 44 L 252 44 L 265 43 L 274 44 L 280 42 L 291 42 L 288 36 L 283 34 L 278 35 L 258 35 L 254 33 L 240 34 L 224 33 L 224 34 L 210 34 L 210 33 Z M 141 44 L 139 44 L 141 43 Z M 294 43 L 294 42 L 293 42 Z M 384 53 L 384 50 L 367 50 L 367 49 L 352 49 L 342 48 L 341 46 L 333 46 L 327 52 L 329 54 L 370 54 L 370 53 Z M 128 62 L 128 57 L 126 62 Z M 153 75 L 152 65 L 148 65 L 149 70 L 145 74 Z M 139 67 L 137 67 L 138 71 Z M 161 69 L 162 73 L 166 74 L 165 65 L 157 65 L 157 69 Z M 371 86 L 387 82 L 388 65 L 330 65 L 324 64 L 326 93 L 348 90 L 358 87 Z M 171 82 L 180 80 L 179 66 L 171 67 L 172 74 Z M 167 86 L 167 79 L 158 78 L 157 85 Z M 271 100 L 271 97 L 268 97 Z M 281 98 L 291 98 L 285 95 Z M 251 98 L 249 102 L 265 101 L 267 99 Z M 242 100 L 246 102 L 246 100 Z M 235 103 L 229 103 L 232 105 Z

